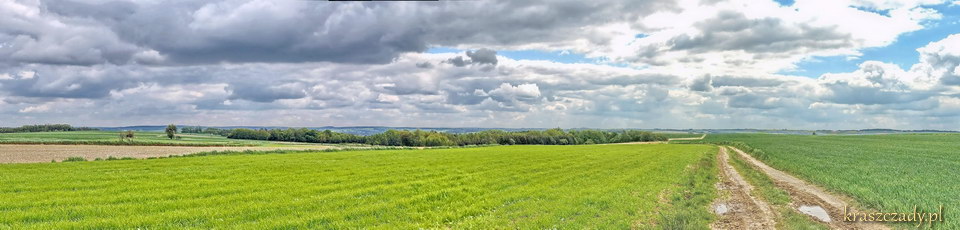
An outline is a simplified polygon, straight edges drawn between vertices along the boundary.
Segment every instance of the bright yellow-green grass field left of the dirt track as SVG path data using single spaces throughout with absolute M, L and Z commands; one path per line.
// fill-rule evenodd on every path
M 710 218 L 700 204 L 712 189 L 689 185 L 715 180 L 703 162 L 715 152 L 497 146 L 6 164 L 0 229 L 648 228 Z M 664 204 L 664 191 L 693 202 Z

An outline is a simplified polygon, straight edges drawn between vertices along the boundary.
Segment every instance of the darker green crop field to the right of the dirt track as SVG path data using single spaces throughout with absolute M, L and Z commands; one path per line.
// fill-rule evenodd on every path
M 704 142 L 746 143 L 756 149 L 751 155 L 770 166 L 848 195 L 873 210 L 960 207 L 957 134 L 711 134 Z M 944 211 L 944 215 L 946 221 L 938 228 L 960 228 L 954 212 Z

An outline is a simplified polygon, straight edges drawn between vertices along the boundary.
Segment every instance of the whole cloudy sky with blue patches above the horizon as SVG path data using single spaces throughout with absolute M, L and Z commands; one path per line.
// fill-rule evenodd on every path
M 956 0 L 0 0 L 0 126 L 960 129 Z

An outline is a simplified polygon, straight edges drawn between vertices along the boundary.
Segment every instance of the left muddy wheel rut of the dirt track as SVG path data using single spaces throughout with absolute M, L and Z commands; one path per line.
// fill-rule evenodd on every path
M 717 154 L 720 163 L 720 182 L 717 188 L 721 196 L 714 201 L 714 209 L 720 219 L 710 225 L 711 229 L 774 229 L 775 214 L 770 204 L 751 195 L 753 186 L 740 176 L 729 163 L 727 149 L 721 147 Z

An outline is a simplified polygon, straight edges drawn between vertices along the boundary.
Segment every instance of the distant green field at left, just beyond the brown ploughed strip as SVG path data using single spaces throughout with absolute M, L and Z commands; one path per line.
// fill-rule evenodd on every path
M 120 132 L 109 131 L 72 131 L 72 132 L 31 132 L 0 133 L 0 143 L 4 144 L 98 144 L 98 145 L 184 145 L 184 146 L 287 146 L 308 143 L 272 142 L 257 140 L 228 139 L 208 134 L 178 134 L 180 139 L 167 138 L 163 132 L 136 132 L 130 141 L 121 141 Z

